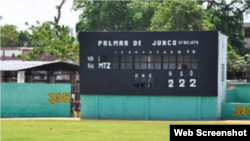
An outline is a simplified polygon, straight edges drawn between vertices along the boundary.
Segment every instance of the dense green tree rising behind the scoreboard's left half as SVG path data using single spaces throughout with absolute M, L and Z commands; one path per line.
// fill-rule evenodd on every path
M 148 30 L 159 2 L 151 0 L 74 0 L 82 10 L 77 31 Z

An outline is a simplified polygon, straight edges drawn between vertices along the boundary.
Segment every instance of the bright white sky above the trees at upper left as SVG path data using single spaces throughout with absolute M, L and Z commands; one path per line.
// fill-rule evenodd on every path
M 25 22 L 36 24 L 36 21 L 54 21 L 54 16 L 57 16 L 55 7 L 60 3 L 61 0 L 0 0 L 0 15 L 3 18 L 0 24 L 13 24 L 18 30 L 25 30 Z M 81 11 L 72 10 L 72 4 L 73 0 L 66 0 L 59 24 L 67 25 L 75 31 Z M 244 22 L 250 22 L 250 15 L 245 17 Z

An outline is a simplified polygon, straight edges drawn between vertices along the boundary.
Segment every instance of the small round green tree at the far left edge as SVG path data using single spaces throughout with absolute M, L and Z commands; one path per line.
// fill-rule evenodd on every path
M 0 46 L 16 47 L 18 45 L 19 32 L 14 25 L 0 26 Z

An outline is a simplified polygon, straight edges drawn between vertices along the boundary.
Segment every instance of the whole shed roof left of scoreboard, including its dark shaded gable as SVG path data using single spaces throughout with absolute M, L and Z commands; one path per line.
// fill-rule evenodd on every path
M 21 70 L 78 70 L 79 65 L 62 61 L 0 61 L 0 71 L 21 71 Z

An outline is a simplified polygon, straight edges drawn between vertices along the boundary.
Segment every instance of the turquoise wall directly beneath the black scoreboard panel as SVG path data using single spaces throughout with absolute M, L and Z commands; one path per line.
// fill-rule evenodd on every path
M 81 95 L 84 119 L 217 119 L 217 97 Z

